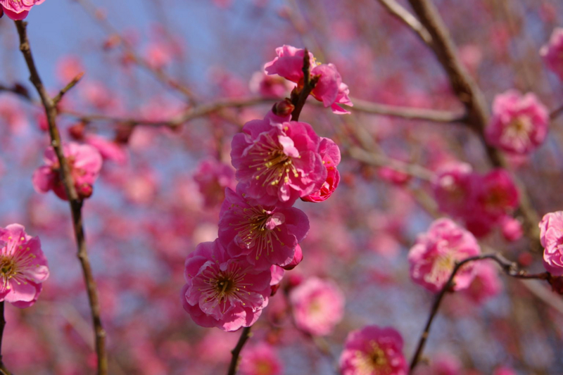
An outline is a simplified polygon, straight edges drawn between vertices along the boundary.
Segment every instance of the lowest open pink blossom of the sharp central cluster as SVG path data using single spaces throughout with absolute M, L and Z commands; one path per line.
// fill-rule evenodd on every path
M 200 243 L 186 258 L 182 305 L 196 324 L 236 331 L 256 322 L 270 296 L 270 269 L 231 258 L 218 240 Z

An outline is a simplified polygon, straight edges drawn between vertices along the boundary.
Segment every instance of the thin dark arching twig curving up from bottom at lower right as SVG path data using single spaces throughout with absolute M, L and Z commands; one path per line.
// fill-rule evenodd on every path
M 540 280 L 548 280 L 548 281 L 552 279 L 552 276 L 549 272 L 542 272 L 540 274 L 529 274 L 524 270 L 518 269 L 516 263 L 507 260 L 507 258 L 503 257 L 498 253 L 478 255 L 475 257 L 464 259 L 461 262 L 457 262 L 452 270 L 452 273 L 450 274 L 450 277 L 448 278 L 448 281 L 445 282 L 444 286 L 441 288 L 438 295 L 436 295 L 436 299 L 434 300 L 434 303 L 432 304 L 429 317 L 426 320 L 426 325 L 424 326 L 424 331 L 422 331 L 422 335 L 419 338 L 417 349 L 415 350 L 415 355 L 412 356 L 412 360 L 410 362 L 410 371 L 415 369 L 415 367 L 417 366 L 420 360 L 420 357 L 422 356 L 422 351 L 424 350 L 424 345 L 426 344 L 426 340 L 429 336 L 432 322 L 434 322 L 434 317 L 436 317 L 436 314 L 445 296 L 445 293 L 452 290 L 454 286 L 453 279 L 455 278 L 457 272 L 461 269 L 461 267 L 463 267 L 465 264 L 469 262 L 473 262 L 476 260 L 485 260 L 485 259 L 490 259 L 497 262 L 498 265 L 500 265 L 500 267 L 502 268 L 502 271 L 505 272 L 505 274 L 507 274 L 510 277 L 514 277 L 517 279 L 540 279 Z

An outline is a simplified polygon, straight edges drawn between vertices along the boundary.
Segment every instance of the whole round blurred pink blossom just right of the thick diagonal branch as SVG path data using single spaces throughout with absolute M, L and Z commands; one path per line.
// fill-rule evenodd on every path
M 536 95 L 521 96 L 508 90 L 495 96 L 493 117 L 486 128 L 491 146 L 509 153 L 526 154 L 540 146 L 548 134 L 549 111 Z

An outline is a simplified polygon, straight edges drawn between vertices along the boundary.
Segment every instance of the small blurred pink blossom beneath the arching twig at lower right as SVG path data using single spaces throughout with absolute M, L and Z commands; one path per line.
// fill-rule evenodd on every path
M 488 260 L 474 265 L 475 277 L 462 293 L 475 303 L 482 304 L 502 291 L 502 281 L 498 277 L 498 267 Z

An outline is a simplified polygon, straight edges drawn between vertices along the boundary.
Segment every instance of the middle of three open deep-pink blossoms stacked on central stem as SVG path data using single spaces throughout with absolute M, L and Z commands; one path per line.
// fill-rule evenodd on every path
M 297 208 L 262 206 L 248 198 L 244 186 L 225 190 L 219 221 L 219 241 L 232 257 L 243 255 L 256 269 L 285 266 L 297 244 L 307 236 L 309 220 Z

